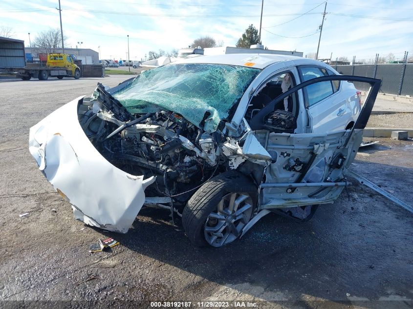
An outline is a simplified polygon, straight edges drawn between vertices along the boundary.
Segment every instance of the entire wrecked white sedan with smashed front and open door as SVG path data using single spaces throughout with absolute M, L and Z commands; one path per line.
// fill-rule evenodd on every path
M 364 104 L 348 81 L 370 84 Z M 198 57 L 98 84 L 34 125 L 29 149 L 88 225 L 126 233 L 156 206 L 220 247 L 339 196 L 379 85 L 298 57 Z

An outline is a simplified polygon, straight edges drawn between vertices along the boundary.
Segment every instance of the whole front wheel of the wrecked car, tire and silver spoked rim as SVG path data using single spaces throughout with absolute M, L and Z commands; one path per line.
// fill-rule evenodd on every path
M 242 234 L 257 202 L 257 187 L 239 172 L 224 172 L 202 185 L 188 201 L 182 224 L 195 246 L 222 247 Z

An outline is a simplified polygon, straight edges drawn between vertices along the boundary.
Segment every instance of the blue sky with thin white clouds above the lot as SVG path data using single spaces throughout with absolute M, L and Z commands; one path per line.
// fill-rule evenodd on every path
M 209 35 L 225 46 L 245 28 L 260 25 L 261 0 L 61 0 L 67 47 L 101 49 L 101 58 L 130 59 L 150 50 L 187 47 Z M 59 28 L 58 0 L 1 0 L 0 26 L 12 27 L 14 38 L 28 45 L 38 32 Z M 270 49 L 317 50 L 324 3 L 320 0 L 264 0 L 261 40 Z M 309 11 L 309 12 L 308 12 Z M 307 14 L 300 16 L 301 14 Z M 376 53 L 405 50 L 413 56 L 412 0 L 329 0 L 319 58 L 346 56 L 373 59 Z M 289 38 L 285 38 L 289 37 Z M 298 38 L 303 37 L 303 38 Z

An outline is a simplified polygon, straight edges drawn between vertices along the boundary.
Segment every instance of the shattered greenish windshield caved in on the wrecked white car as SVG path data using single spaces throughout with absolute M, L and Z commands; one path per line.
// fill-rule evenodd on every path
M 132 114 L 167 109 L 214 132 L 260 69 L 205 63 L 180 63 L 143 72 L 113 94 Z

